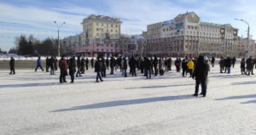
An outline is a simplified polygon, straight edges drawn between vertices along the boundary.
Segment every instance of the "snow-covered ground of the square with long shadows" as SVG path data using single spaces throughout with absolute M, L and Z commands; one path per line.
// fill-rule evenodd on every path
M 116 72 L 104 83 L 87 71 L 61 85 L 58 73 L 0 71 L 0 134 L 255 135 L 256 76 L 236 66 L 211 69 L 207 97 L 193 97 L 195 81 L 174 71 L 152 80 Z

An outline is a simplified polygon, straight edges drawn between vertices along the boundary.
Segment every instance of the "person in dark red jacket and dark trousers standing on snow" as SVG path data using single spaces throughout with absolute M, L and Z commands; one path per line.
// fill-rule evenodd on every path
M 59 61 L 59 68 L 60 68 L 60 83 L 67 83 L 66 75 L 68 74 L 68 64 L 67 58 L 63 55 Z

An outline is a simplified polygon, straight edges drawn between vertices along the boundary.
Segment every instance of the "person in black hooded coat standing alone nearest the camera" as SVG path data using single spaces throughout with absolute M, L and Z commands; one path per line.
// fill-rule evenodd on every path
M 208 65 L 204 62 L 203 56 L 199 56 L 197 59 L 196 68 L 192 75 L 192 78 L 196 78 L 196 90 L 193 96 L 198 96 L 199 85 L 202 87 L 203 97 L 206 96 L 206 78 L 208 76 Z

